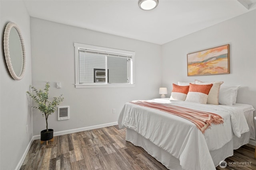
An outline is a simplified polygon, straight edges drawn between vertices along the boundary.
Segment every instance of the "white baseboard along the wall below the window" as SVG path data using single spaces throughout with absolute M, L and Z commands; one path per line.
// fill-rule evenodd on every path
M 112 122 L 112 123 L 106 123 L 106 124 L 101 124 L 101 125 L 94 125 L 94 126 L 88 126 L 88 127 L 81 127 L 81 128 L 77 128 L 77 129 L 70 129 L 70 130 L 66 130 L 66 131 L 59 131 L 59 132 L 54 132 L 53 135 L 60 136 L 60 135 L 66 135 L 66 134 L 70 134 L 70 133 L 76 133 L 76 132 L 88 131 L 88 130 L 92 130 L 92 129 L 98 129 L 98 128 L 102 128 L 102 127 L 113 126 L 113 125 L 118 125 L 118 123 Z M 37 140 L 37 139 L 40 139 L 40 135 L 35 135 L 33 137 L 33 140 Z

